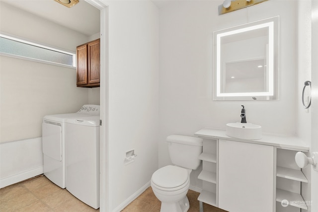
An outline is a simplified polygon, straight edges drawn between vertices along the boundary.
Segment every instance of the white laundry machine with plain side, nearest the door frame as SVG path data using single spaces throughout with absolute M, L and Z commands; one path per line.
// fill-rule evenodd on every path
M 99 208 L 99 116 L 68 119 L 66 189 L 83 203 Z

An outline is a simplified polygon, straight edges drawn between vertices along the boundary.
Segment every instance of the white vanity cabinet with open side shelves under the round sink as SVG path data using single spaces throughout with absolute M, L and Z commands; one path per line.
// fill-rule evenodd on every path
M 297 151 L 309 147 L 294 137 L 266 136 L 260 140 L 228 137 L 224 130 L 204 128 L 195 133 L 203 139 L 203 203 L 229 212 L 300 212 L 307 210 L 301 184 L 308 183 L 296 165 Z M 281 202 L 288 201 L 288 206 Z

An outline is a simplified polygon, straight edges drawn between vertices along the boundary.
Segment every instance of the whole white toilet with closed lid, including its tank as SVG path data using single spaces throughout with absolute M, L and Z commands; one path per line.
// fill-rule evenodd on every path
M 172 135 L 167 141 L 173 165 L 155 171 L 151 187 L 161 201 L 160 212 L 187 212 L 190 173 L 200 165 L 198 156 L 202 153 L 202 139 Z

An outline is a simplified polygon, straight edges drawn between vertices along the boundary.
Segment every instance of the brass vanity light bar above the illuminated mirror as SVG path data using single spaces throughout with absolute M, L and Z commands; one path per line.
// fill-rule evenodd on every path
M 219 15 L 261 3 L 266 0 L 225 0 L 219 5 Z

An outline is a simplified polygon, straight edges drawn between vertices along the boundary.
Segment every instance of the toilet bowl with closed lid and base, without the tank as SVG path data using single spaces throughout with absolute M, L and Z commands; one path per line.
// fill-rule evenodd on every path
M 164 166 L 152 176 L 151 187 L 161 202 L 160 212 L 186 212 L 190 205 L 186 196 L 190 187 L 191 169 Z

